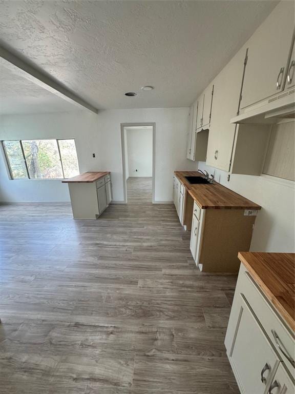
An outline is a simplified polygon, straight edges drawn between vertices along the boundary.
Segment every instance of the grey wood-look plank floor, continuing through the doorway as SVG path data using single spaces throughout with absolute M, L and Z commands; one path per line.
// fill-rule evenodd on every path
M 97 221 L 0 206 L 1 394 L 233 394 L 234 275 L 197 270 L 151 180 Z M 150 194 L 148 194 L 150 193 Z

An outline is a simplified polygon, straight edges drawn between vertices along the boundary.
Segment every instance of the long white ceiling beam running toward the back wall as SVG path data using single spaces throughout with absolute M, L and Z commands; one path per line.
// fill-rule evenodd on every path
M 27 78 L 36 85 L 48 90 L 49 92 L 61 97 L 76 106 L 97 113 L 98 109 L 87 103 L 81 97 L 60 85 L 51 76 L 37 70 L 35 67 L 24 62 L 7 49 L 0 46 L 0 65 L 9 68 L 12 72 Z

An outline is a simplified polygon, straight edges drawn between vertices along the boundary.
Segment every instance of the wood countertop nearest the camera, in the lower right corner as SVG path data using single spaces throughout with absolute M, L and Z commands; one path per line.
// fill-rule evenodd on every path
M 295 253 L 239 252 L 265 297 L 295 330 Z

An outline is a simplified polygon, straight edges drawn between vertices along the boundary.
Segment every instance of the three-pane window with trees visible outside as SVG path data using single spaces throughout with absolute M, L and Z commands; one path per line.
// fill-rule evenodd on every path
M 2 143 L 12 179 L 64 179 L 79 174 L 75 140 Z

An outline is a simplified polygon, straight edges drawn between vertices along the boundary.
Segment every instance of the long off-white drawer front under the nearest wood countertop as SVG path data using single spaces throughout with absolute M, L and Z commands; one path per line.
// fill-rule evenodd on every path
M 285 363 L 286 367 L 294 373 L 294 365 L 288 360 L 294 360 L 294 338 L 288 328 L 281 322 L 279 314 L 269 304 L 268 300 L 266 300 L 243 265 L 241 265 L 241 270 L 244 272 L 240 283 L 237 285 L 239 292 L 244 294 L 246 300 L 266 331 L 273 347 L 277 350 L 280 359 Z M 287 354 L 287 357 L 284 353 Z

